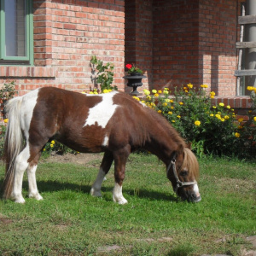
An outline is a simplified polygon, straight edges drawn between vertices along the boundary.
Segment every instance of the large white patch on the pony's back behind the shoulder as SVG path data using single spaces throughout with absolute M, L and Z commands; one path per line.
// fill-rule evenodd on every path
M 99 102 L 95 107 L 90 108 L 84 126 L 95 125 L 97 123 L 99 126 L 102 126 L 102 128 L 105 128 L 106 125 L 108 125 L 109 119 L 112 118 L 115 109 L 119 107 L 118 105 L 113 104 L 113 96 L 117 93 L 118 91 L 113 91 L 102 94 L 102 102 Z

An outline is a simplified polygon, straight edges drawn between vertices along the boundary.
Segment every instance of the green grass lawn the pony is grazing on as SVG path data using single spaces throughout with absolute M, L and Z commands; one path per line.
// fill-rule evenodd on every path
M 202 201 L 193 204 L 177 199 L 156 157 L 131 154 L 125 206 L 112 201 L 113 168 L 102 198 L 90 196 L 100 163 L 41 161 L 44 201 L 27 198 L 26 177 L 26 204 L 0 201 L 0 255 L 241 255 L 252 248 L 245 237 L 256 235 L 255 163 L 200 160 Z

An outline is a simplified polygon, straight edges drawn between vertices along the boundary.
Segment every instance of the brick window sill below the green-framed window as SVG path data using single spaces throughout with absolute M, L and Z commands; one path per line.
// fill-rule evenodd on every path
M 0 66 L 0 78 L 55 78 L 53 67 Z

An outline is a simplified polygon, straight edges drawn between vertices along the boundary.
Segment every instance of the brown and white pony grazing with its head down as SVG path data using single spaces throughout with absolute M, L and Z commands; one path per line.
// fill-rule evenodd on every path
M 55 139 L 81 153 L 105 152 L 90 190 L 93 196 L 101 196 L 102 181 L 114 161 L 113 201 L 127 203 L 122 194 L 125 164 L 133 150 L 145 148 L 166 164 L 166 175 L 177 195 L 201 201 L 195 155 L 166 119 L 125 93 L 85 95 L 44 87 L 10 100 L 7 112 L 4 198 L 25 202 L 21 189 L 27 171 L 29 197 L 43 199 L 36 169 L 44 145 Z

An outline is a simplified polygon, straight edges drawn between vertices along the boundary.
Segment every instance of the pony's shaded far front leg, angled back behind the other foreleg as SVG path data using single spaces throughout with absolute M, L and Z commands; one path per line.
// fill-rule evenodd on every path
M 109 151 L 105 152 L 102 164 L 100 166 L 100 171 L 96 177 L 95 183 L 91 186 L 90 195 L 92 196 L 102 196 L 101 189 L 102 189 L 102 182 L 104 177 L 107 175 L 111 165 L 113 163 L 113 154 Z

